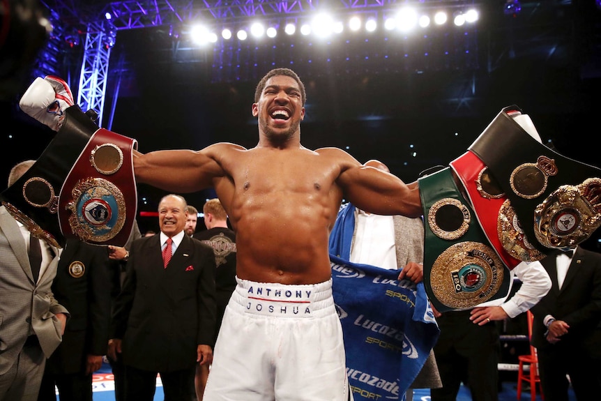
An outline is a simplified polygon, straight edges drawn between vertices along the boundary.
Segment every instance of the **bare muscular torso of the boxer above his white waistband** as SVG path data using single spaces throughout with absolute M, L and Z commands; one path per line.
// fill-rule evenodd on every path
M 330 278 L 328 235 L 342 190 L 340 166 L 308 149 L 254 148 L 221 162 L 215 180 L 238 248 L 236 273 L 257 282 L 310 284 Z

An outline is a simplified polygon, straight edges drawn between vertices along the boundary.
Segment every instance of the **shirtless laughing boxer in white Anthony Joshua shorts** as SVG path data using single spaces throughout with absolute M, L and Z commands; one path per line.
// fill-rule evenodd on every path
M 381 215 L 422 215 L 417 183 L 364 167 L 341 149 L 303 147 L 305 100 L 298 75 L 277 68 L 254 94 L 254 148 L 135 152 L 138 183 L 178 193 L 215 188 L 236 231 L 238 287 L 205 401 L 347 401 L 328 253 L 342 198 Z

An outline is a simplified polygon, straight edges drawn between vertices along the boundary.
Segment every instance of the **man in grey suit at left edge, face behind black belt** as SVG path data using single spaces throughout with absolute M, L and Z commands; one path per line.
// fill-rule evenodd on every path
M 15 165 L 8 186 L 34 163 Z M 0 206 L 0 401 L 37 400 L 46 358 L 61 343 L 68 317 L 51 290 L 58 250 L 33 238 L 41 262 L 32 268 L 29 237 L 26 227 Z

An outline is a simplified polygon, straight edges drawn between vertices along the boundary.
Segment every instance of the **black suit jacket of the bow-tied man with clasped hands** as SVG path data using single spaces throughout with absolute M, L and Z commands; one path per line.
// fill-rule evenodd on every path
M 558 287 L 556 256 L 540 261 L 551 278 L 551 289 L 533 306 L 531 343 L 538 349 L 554 347 L 545 339 L 545 316 L 570 325 L 556 346 L 601 357 L 601 254 L 576 248 L 563 286 Z

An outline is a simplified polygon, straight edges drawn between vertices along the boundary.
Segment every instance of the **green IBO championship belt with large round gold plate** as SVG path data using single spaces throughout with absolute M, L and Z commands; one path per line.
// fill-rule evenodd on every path
M 418 179 L 424 210 L 424 283 L 439 312 L 507 296 L 510 274 L 455 185 L 449 167 Z

